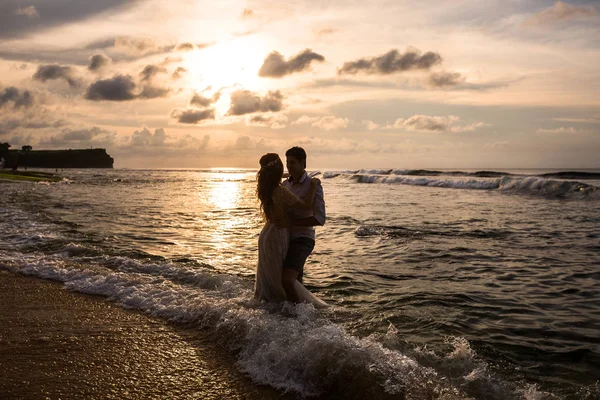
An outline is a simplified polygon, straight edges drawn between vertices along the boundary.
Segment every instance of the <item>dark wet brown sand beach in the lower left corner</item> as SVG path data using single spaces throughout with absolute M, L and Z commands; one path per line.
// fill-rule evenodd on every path
M 275 399 L 203 332 L 0 271 L 1 399 Z

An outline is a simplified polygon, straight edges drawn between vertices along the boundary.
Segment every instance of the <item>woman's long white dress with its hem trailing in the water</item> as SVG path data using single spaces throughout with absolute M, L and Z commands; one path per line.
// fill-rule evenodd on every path
M 298 198 L 289 189 L 278 186 L 273 193 L 273 219 L 285 218 L 285 209 L 297 201 Z M 278 227 L 267 220 L 258 237 L 258 265 L 254 285 L 256 299 L 269 302 L 286 300 L 281 273 L 289 244 L 289 229 Z M 313 295 L 299 281 L 296 280 L 294 285 L 300 302 L 311 303 L 315 307 L 327 306 L 327 303 Z

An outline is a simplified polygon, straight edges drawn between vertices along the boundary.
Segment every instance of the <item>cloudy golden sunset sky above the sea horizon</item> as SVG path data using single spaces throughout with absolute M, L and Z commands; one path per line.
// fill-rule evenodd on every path
M 115 167 L 600 168 L 600 3 L 2 0 L 0 141 Z

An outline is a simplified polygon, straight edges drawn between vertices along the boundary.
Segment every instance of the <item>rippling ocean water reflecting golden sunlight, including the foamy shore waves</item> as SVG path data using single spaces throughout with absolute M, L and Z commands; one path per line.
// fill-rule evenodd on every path
M 600 399 L 600 170 L 311 173 L 326 310 L 252 299 L 252 170 L 0 182 L 0 269 L 203 330 L 298 397 Z

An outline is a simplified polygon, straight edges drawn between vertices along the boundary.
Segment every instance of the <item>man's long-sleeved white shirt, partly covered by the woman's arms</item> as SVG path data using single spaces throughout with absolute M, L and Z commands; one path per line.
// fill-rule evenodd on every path
M 302 200 L 306 200 L 306 195 L 310 192 L 310 179 L 308 174 L 304 171 L 302 177 L 298 182 L 294 182 L 292 176 L 283 181 L 283 186 L 287 187 L 296 196 Z M 325 224 L 325 199 L 323 198 L 323 187 L 317 186 L 315 192 L 315 198 L 313 200 L 312 210 L 293 209 L 290 211 L 291 216 L 294 219 L 315 217 L 319 225 Z M 307 237 L 315 239 L 315 228 L 312 226 L 291 226 L 290 227 L 290 239 L 299 237 Z

